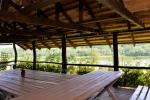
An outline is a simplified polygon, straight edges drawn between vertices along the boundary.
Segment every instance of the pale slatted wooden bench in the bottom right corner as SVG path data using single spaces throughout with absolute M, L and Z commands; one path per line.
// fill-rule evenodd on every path
M 139 85 L 130 100 L 150 100 L 150 88 Z

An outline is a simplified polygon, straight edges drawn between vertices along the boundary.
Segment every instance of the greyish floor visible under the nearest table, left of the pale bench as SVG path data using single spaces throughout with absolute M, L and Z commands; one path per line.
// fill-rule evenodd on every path
M 117 100 L 129 100 L 134 92 L 133 88 L 111 88 L 112 92 L 116 95 Z M 98 100 L 112 100 L 107 92 L 104 92 Z

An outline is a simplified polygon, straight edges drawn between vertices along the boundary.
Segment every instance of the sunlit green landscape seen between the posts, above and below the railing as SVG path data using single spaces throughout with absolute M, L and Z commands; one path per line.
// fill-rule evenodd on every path
M 150 44 L 119 45 L 119 65 L 120 66 L 148 66 L 150 67 Z M 14 59 L 12 48 L 1 49 L 0 52 L 8 52 L 9 58 Z M 17 47 L 18 60 L 32 61 L 33 52 L 31 50 L 24 51 Z M 46 62 L 62 62 L 61 49 L 41 49 L 37 50 L 37 61 Z M 104 64 L 113 65 L 113 52 L 109 46 L 93 46 L 93 47 L 77 47 L 67 48 L 67 62 L 77 64 Z M 17 67 L 32 69 L 32 63 L 20 62 Z M 67 74 L 85 74 L 94 70 L 113 70 L 110 68 L 95 68 L 90 66 L 67 66 Z M 0 67 L 0 70 L 5 70 L 5 67 Z M 61 72 L 61 65 L 38 63 L 37 70 Z M 135 87 L 139 84 L 150 86 L 150 71 L 149 70 L 134 70 L 121 69 L 124 75 L 119 80 L 120 86 Z

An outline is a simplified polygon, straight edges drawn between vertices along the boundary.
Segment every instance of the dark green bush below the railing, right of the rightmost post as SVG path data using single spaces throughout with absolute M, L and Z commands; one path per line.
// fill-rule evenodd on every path
M 120 86 L 137 87 L 140 85 L 150 86 L 150 71 L 139 69 L 122 69 L 124 75 L 119 79 Z

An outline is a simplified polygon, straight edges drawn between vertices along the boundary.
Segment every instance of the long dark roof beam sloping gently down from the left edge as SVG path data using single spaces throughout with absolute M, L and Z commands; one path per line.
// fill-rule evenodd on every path
M 63 28 L 68 30 L 80 30 L 80 31 L 90 31 L 96 32 L 95 29 L 90 27 L 84 27 L 81 25 L 68 24 L 63 22 L 56 22 L 50 19 L 38 18 L 36 16 L 24 16 L 19 13 L 11 13 L 11 12 L 0 12 L 0 19 L 3 21 L 17 21 L 22 23 L 29 23 L 35 25 L 47 25 L 57 28 Z

